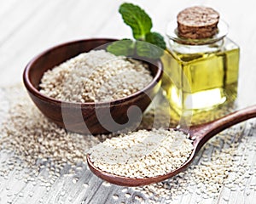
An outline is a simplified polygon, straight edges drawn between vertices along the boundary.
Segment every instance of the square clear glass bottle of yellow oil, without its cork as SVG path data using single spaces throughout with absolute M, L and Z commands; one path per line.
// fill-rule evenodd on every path
M 167 26 L 164 89 L 178 114 L 236 99 L 240 49 L 226 37 L 227 31 L 219 20 L 213 37 L 188 39 L 178 36 L 176 21 Z

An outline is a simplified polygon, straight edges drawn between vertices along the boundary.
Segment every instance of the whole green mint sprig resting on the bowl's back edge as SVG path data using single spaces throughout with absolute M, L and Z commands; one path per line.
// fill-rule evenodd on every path
M 160 58 L 164 49 L 166 49 L 166 42 L 160 33 L 151 31 L 152 20 L 148 14 L 142 8 L 132 3 L 121 4 L 119 13 L 122 15 L 125 24 L 131 27 L 136 41 L 125 39 L 113 42 L 108 45 L 108 52 L 115 55 L 131 56 L 132 54 L 137 54 L 151 59 Z

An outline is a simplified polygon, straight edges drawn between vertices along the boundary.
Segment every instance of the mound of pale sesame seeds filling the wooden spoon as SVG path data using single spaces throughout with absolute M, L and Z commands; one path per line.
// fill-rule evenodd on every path
M 193 150 L 181 131 L 153 129 L 107 139 L 90 149 L 90 160 L 105 172 L 130 178 L 164 175 L 181 167 Z

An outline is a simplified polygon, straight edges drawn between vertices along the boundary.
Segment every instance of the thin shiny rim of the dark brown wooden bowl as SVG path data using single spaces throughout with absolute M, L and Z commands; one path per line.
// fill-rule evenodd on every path
M 113 39 L 113 38 L 86 38 L 86 39 L 79 39 L 79 40 L 73 40 L 73 41 L 69 41 L 69 42 L 62 42 L 59 43 L 55 46 L 52 46 L 50 48 L 45 49 L 43 52 L 37 54 L 36 56 L 34 56 L 26 65 L 25 70 L 23 72 L 23 82 L 26 86 L 26 89 L 33 95 L 35 95 L 36 97 L 38 97 L 39 99 L 42 100 L 47 100 L 50 101 L 51 103 L 57 104 L 57 105 L 68 105 L 68 106 L 78 106 L 82 107 L 82 106 L 96 106 L 96 105 L 119 105 L 120 103 L 123 103 L 126 100 L 130 100 L 130 99 L 134 99 L 138 96 L 140 96 L 143 93 L 146 93 L 147 90 L 150 90 L 152 88 L 154 88 L 154 86 L 160 82 L 161 77 L 163 75 L 163 65 L 160 59 L 156 60 L 157 65 L 157 72 L 155 74 L 155 76 L 153 77 L 153 80 L 151 82 L 148 83 L 148 85 L 141 89 L 138 90 L 137 92 L 126 96 L 124 98 L 121 99 L 115 99 L 115 100 L 109 100 L 109 101 L 102 101 L 102 102 L 68 102 L 68 101 L 62 101 L 60 99 L 54 99 L 51 98 L 45 94 L 40 93 L 40 91 L 38 90 L 38 88 L 35 88 L 32 85 L 32 82 L 30 81 L 30 77 L 29 77 L 29 72 L 32 69 L 32 66 L 37 62 L 38 59 L 40 59 L 41 57 L 44 56 L 44 54 L 49 53 L 49 51 L 57 49 L 57 48 L 61 48 L 61 47 L 65 47 L 67 45 L 71 45 L 73 43 L 79 43 L 79 42 L 92 42 L 92 41 L 109 41 L 109 42 L 114 42 L 114 41 L 118 41 L 119 39 Z M 148 64 L 153 65 L 152 63 L 147 62 Z

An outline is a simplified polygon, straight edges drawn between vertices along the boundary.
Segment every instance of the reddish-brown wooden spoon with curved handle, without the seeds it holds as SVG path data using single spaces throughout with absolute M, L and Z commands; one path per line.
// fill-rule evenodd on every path
M 160 181 L 165 180 L 166 178 L 171 178 L 177 175 L 177 173 L 180 173 L 187 167 L 189 167 L 189 164 L 195 159 L 196 153 L 199 150 L 201 150 L 201 147 L 209 139 L 211 139 L 212 136 L 216 135 L 217 133 L 220 133 L 221 131 L 228 127 L 231 127 L 239 122 L 246 121 L 247 119 L 253 117 L 256 117 L 256 105 L 247 107 L 240 111 L 235 111 L 215 121 L 190 127 L 189 130 L 185 130 L 182 128 L 177 129 L 177 131 L 183 131 L 183 133 L 189 134 L 189 139 L 193 140 L 194 150 L 189 156 L 189 159 L 185 163 L 183 163 L 181 167 L 178 167 L 177 169 L 173 170 L 170 173 L 166 173 L 165 175 L 155 176 L 151 178 L 128 178 L 124 176 L 118 176 L 113 173 L 107 173 L 95 167 L 93 165 L 93 162 L 90 161 L 90 155 L 87 155 L 87 162 L 92 173 L 95 173 L 96 176 L 98 176 L 99 178 L 102 178 L 112 184 L 118 184 L 123 186 L 140 186 L 158 183 Z

